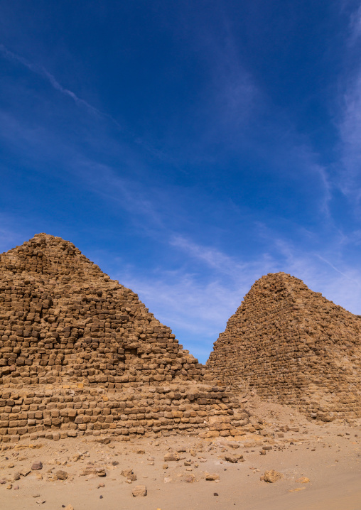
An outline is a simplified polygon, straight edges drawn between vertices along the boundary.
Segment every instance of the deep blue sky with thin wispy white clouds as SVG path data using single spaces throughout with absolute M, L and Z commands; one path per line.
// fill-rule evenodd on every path
M 0 251 L 69 239 L 202 362 L 285 271 L 361 314 L 360 1 L 0 3 Z

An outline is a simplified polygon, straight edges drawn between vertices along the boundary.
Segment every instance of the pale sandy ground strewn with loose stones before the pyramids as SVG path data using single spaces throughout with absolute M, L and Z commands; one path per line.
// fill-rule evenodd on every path
M 281 406 L 250 407 L 266 425 L 237 440 L 170 435 L 104 444 L 87 436 L 3 443 L 0 509 L 361 510 L 360 425 L 318 425 Z M 295 430 L 281 433 L 282 424 Z M 179 460 L 165 462 L 173 452 Z M 225 460 L 241 455 L 237 463 Z M 31 470 L 37 461 L 42 469 Z M 136 480 L 122 474 L 127 469 Z M 68 478 L 57 479 L 59 470 Z M 264 482 L 267 470 L 281 479 Z M 207 473 L 219 481 L 206 480 Z M 136 485 L 146 486 L 146 497 L 133 497 Z

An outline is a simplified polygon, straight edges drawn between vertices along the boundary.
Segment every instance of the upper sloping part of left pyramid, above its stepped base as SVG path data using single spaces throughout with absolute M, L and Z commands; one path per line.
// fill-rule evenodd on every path
M 38 234 L 0 255 L 0 272 L 3 384 L 202 379 L 170 328 L 72 243 Z

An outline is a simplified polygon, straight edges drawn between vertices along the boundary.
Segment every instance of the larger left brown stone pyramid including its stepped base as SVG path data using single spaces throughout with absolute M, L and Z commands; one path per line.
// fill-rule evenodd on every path
M 169 327 L 72 243 L 38 234 L 0 255 L 0 440 L 247 423 L 204 379 Z

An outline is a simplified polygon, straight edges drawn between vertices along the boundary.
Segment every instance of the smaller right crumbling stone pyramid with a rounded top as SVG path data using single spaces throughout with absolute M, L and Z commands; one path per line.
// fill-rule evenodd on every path
M 286 273 L 254 283 L 206 366 L 310 418 L 361 416 L 361 317 Z

